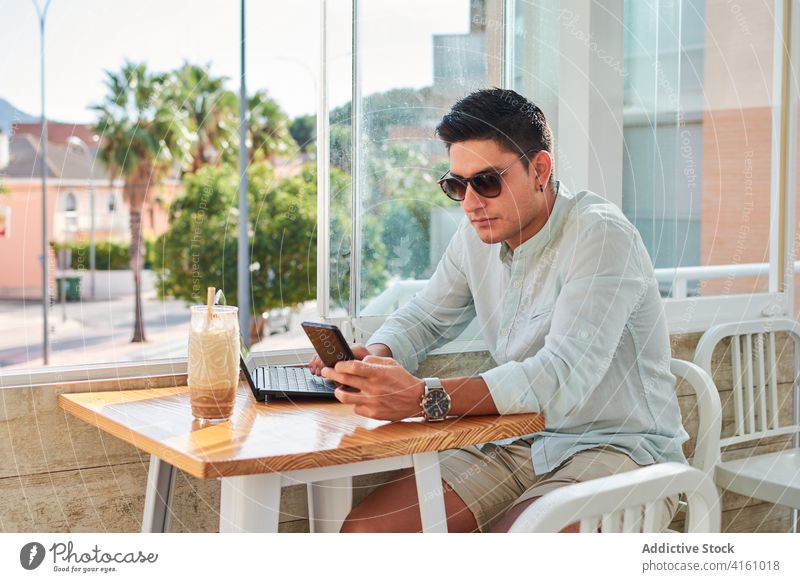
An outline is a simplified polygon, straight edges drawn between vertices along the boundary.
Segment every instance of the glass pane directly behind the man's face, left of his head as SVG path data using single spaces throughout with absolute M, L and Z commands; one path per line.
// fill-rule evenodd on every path
M 438 264 L 462 211 L 437 179 L 434 128 L 452 104 L 500 79 L 499 1 L 361 2 L 357 313 L 385 315 Z

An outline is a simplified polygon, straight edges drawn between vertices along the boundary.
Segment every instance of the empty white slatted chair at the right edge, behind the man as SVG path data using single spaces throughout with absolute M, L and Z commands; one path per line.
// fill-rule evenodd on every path
M 793 348 L 791 398 L 778 394 L 775 334 L 788 334 Z M 792 508 L 797 531 L 800 508 L 800 325 L 790 319 L 763 319 L 717 325 L 703 334 L 694 361 L 712 374 L 717 344 L 730 338 L 734 434 L 720 440 L 730 445 L 792 435 L 792 447 L 717 464 L 714 481 L 723 489 Z M 791 411 L 791 421 L 781 419 Z

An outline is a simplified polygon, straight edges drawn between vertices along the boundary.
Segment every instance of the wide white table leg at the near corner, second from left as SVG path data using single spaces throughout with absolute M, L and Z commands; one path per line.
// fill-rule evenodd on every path
M 222 478 L 221 533 L 275 533 L 280 512 L 280 473 Z

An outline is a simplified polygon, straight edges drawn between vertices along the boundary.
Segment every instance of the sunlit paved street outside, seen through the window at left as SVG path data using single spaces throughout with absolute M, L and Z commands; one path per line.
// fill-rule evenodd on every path
M 51 364 L 98 364 L 177 358 L 186 355 L 189 308 L 183 301 L 160 301 L 154 293 L 143 304 L 147 341 L 130 342 L 133 297 L 110 301 L 82 301 L 50 309 Z M 300 322 L 317 318 L 316 303 L 293 314 L 291 329 L 265 338 L 255 350 L 310 346 Z M 0 370 L 42 366 L 42 307 L 38 302 L 0 300 Z

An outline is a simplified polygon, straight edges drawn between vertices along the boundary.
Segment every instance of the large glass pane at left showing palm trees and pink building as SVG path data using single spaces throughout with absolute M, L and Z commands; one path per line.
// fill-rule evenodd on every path
M 0 62 L 0 373 L 39 366 L 44 351 L 39 22 L 34 3 L 12 4 L 0 19 L 0 52 L 17 55 Z M 225 0 L 50 5 L 51 364 L 183 357 L 188 305 L 209 285 L 237 302 L 239 10 Z M 305 340 L 297 322 L 316 316 L 319 2 L 247 11 L 252 331 L 262 347 L 293 347 Z M 127 62 L 142 66 L 124 72 Z M 137 217 L 146 341 L 132 342 Z

